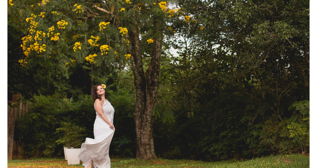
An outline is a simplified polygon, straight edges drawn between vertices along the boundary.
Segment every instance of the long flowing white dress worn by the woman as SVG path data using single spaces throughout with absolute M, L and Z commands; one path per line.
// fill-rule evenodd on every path
M 111 103 L 107 100 L 104 101 L 102 108 L 106 118 L 113 123 L 114 109 Z M 94 124 L 95 139 L 86 138 L 86 141 L 81 145 L 78 158 L 83 161 L 85 168 L 91 161 L 93 161 L 93 168 L 110 168 L 109 146 L 114 130 L 99 116 L 97 111 L 96 115 Z

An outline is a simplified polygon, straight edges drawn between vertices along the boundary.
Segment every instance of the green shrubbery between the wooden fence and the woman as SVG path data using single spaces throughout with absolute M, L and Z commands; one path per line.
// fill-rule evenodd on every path
M 61 146 L 55 143 L 58 139 L 60 139 L 60 143 L 66 141 L 66 138 L 62 139 L 61 136 L 55 134 L 56 129 L 60 127 L 60 123 L 80 127 L 88 125 L 91 128 L 96 114 L 93 119 L 86 118 L 86 116 L 93 109 L 93 104 L 90 104 L 90 110 L 87 110 L 87 104 L 91 103 L 92 99 L 87 99 L 87 96 L 83 95 L 79 97 L 82 99 L 74 101 L 73 98 L 67 99 L 59 95 L 33 96 L 29 102 L 28 113 L 26 116 L 18 118 L 15 123 L 14 139 L 22 145 L 24 157 L 54 157 L 62 155 Z M 83 97 L 86 97 L 86 99 Z M 86 113 L 86 116 L 81 113 Z M 62 131 L 61 129 L 63 128 L 59 128 L 58 132 Z M 80 130 L 82 133 L 77 134 Z M 78 147 L 80 142 L 84 142 L 83 136 L 87 131 L 78 128 L 77 133 L 75 136 L 80 135 L 80 138 L 76 138 Z M 71 143 L 73 142 L 75 141 Z

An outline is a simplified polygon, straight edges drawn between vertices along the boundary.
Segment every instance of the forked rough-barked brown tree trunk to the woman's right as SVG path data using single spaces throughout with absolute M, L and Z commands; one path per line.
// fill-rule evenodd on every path
M 137 135 L 136 158 L 148 160 L 157 158 L 153 140 L 154 116 L 152 115 L 152 110 L 156 104 L 159 88 L 159 64 L 163 35 L 162 31 L 157 27 L 156 32 L 160 36 L 154 39 L 151 62 L 146 73 L 144 73 L 139 31 L 137 24 L 135 26 L 136 28 L 129 31 L 129 37 L 132 44 L 131 66 L 136 88 L 136 107 L 134 111 Z

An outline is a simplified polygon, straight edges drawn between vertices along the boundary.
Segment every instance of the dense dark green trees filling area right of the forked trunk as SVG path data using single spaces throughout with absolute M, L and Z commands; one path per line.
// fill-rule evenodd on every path
M 159 141 L 173 149 L 161 149 L 162 156 L 174 149 L 182 154 L 175 158 L 206 160 L 299 152 L 289 138 L 288 107 L 309 97 L 309 2 L 177 5 L 197 25 L 171 20 L 177 34 L 165 43 L 161 84 L 170 90 L 176 119 L 155 127 Z M 171 46 L 178 55 L 170 54 Z M 309 127 L 293 133 L 304 130 Z

